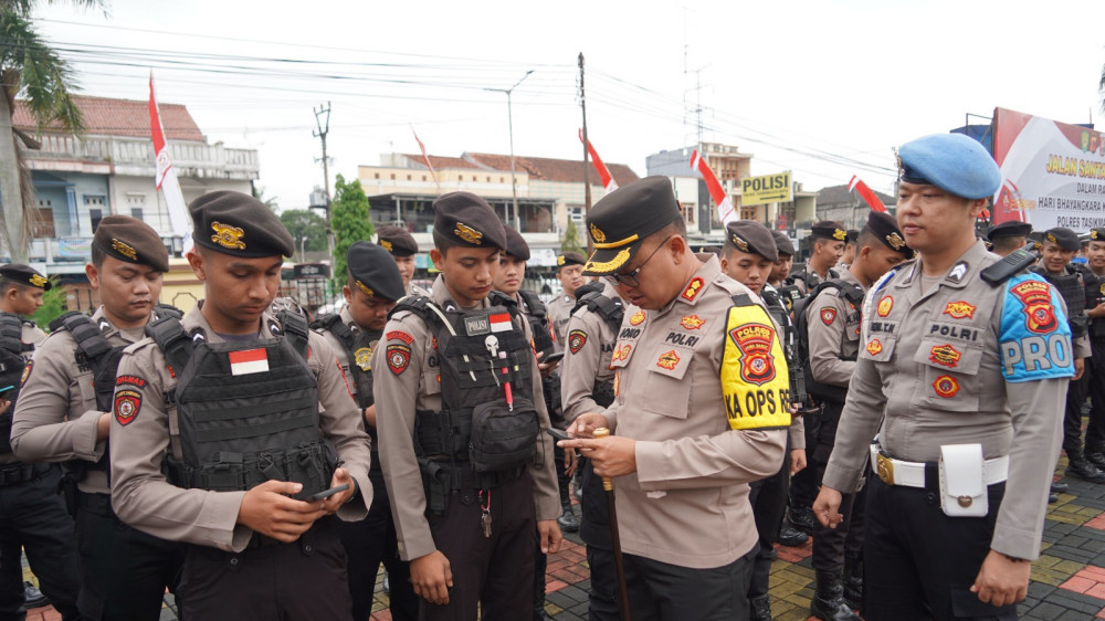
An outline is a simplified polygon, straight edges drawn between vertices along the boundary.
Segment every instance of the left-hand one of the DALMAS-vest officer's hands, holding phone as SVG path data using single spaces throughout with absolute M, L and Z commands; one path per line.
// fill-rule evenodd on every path
M 287 496 L 302 490 L 301 483 L 265 481 L 245 493 L 238 509 L 238 523 L 285 544 L 295 541 L 316 519 L 326 515 L 322 503 Z

